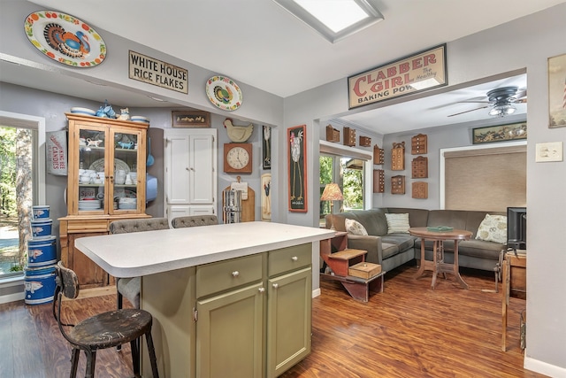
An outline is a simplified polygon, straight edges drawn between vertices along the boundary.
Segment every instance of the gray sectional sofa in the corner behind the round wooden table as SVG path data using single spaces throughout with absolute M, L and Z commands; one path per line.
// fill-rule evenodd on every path
M 411 228 L 447 226 L 470 231 L 471 239 L 458 244 L 459 265 L 463 267 L 493 272 L 499 263 L 501 251 L 506 249 L 504 243 L 475 239 L 479 225 L 487 213 L 506 215 L 505 212 L 378 208 L 328 214 L 325 216 L 325 225 L 326 228 L 333 226 L 337 231 L 346 231 L 345 220 L 357 220 L 368 235 L 348 234 L 348 248 L 368 251 L 367 261 L 381 265 L 385 271 L 391 271 L 415 258 L 420 259 L 421 239 L 405 233 L 387 234 L 386 213 L 408 213 Z M 454 242 L 445 242 L 444 246 L 445 261 L 453 262 Z M 432 242 L 425 243 L 424 256 L 432 260 Z

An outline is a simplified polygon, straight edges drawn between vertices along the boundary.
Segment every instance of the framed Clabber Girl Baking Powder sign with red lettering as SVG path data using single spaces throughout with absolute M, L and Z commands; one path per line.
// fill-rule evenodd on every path
M 348 77 L 349 109 L 447 85 L 446 44 Z

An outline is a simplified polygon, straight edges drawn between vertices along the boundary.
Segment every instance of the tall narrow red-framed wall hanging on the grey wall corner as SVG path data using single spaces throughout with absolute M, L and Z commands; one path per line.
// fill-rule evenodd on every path
M 287 128 L 289 212 L 307 212 L 306 125 Z

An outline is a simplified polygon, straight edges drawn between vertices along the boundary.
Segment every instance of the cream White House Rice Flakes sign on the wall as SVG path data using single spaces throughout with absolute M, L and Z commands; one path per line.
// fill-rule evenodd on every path
M 130 79 L 188 94 L 188 70 L 130 50 Z

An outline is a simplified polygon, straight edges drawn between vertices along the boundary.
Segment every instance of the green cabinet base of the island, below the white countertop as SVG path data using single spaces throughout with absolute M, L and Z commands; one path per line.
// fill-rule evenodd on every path
M 275 377 L 310 353 L 311 243 L 142 277 L 159 373 Z M 147 351 L 144 376 L 151 376 Z

